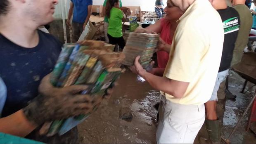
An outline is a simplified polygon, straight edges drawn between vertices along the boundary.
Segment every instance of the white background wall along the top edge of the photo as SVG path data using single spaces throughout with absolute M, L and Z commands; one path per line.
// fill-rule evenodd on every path
M 140 6 L 143 11 L 154 11 L 156 0 L 122 0 L 123 6 Z M 93 5 L 103 5 L 104 0 L 93 0 Z M 167 0 L 163 0 L 166 6 Z

